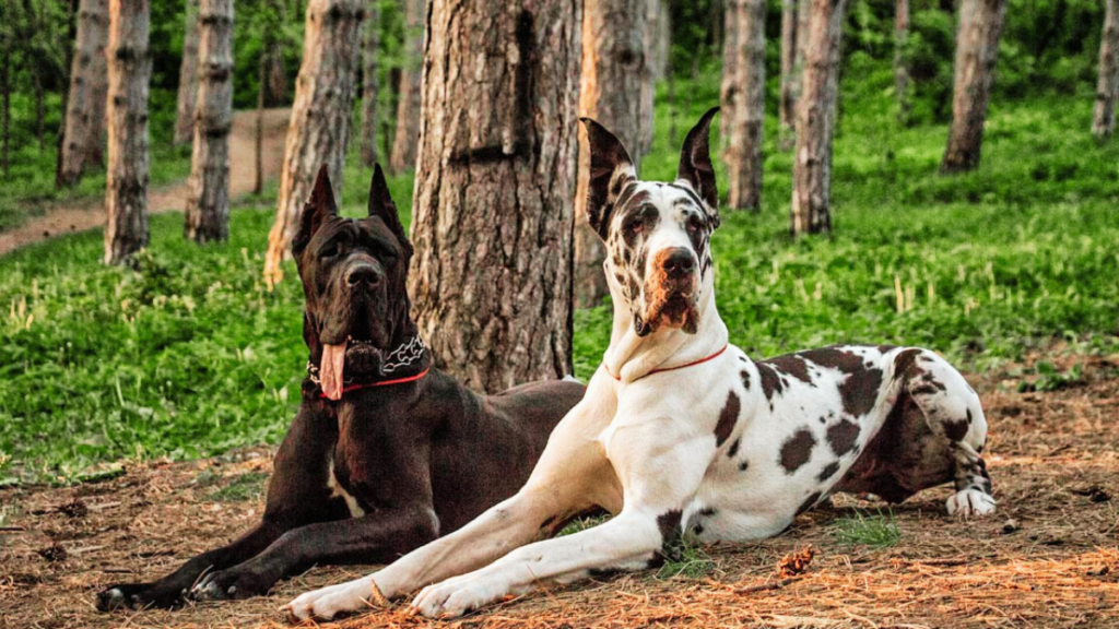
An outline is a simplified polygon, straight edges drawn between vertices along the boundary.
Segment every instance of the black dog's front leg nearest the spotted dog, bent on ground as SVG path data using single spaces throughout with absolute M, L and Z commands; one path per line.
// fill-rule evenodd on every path
M 190 591 L 198 600 L 261 595 L 284 576 L 316 564 L 387 564 L 439 537 L 430 506 L 382 509 L 359 518 L 323 522 L 284 533 L 263 553 L 213 572 Z

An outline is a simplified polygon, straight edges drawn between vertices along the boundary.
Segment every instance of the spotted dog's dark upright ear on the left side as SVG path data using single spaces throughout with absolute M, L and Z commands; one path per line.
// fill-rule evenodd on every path
M 610 232 L 610 215 L 618 195 L 630 181 L 637 181 L 633 160 L 621 141 L 598 122 L 581 118 L 586 125 L 591 148 L 591 172 L 586 186 L 586 222 L 602 240 Z

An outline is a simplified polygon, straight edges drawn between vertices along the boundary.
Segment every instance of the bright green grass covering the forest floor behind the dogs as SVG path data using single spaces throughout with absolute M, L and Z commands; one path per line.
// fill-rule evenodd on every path
M 755 356 L 914 344 L 978 369 L 1054 339 L 1119 348 L 1119 142 L 1091 139 L 1091 100 L 995 102 L 982 166 L 941 177 L 946 128 L 897 128 L 890 81 L 883 65 L 845 85 L 835 235 L 789 237 L 791 156 L 772 139 L 763 212 L 723 209 L 713 242 L 732 340 Z M 670 142 L 658 109 L 647 178 L 675 175 L 678 143 L 717 102 L 718 77 L 677 93 L 690 94 L 690 110 Z M 768 120 L 767 135 L 775 130 Z M 369 177 L 356 163 L 350 215 L 364 212 Z M 410 207 L 411 178 L 391 186 Z M 272 292 L 260 279 L 273 209 L 267 197 L 236 209 L 229 242 L 207 247 L 181 237 L 181 216 L 156 216 L 138 271 L 101 265 L 95 233 L 0 257 L 0 480 L 66 481 L 120 459 L 278 442 L 307 355 L 293 265 Z M 579 376 L 598 365 L 609 319 L 608 307 L 576 314 Z

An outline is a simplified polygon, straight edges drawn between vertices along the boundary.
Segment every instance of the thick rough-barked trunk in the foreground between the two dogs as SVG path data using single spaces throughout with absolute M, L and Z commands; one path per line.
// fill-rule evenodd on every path
M 476 389 L 572 369 L 581 7 L 430 9 L 408 288 L 440 366 Z

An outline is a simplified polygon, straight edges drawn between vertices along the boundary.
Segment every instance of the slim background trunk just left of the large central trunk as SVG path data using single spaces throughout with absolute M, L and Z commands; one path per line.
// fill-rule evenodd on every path
M 401 71 L 399 101 L 396 103 L 396 139 L 393 141 L 389 172 L 403 172 L 416 167 L 422 100 L 420 76 L 424 58 L 424 0 L 404 0 L 407 44 L 404 47 L 405 65 Z

